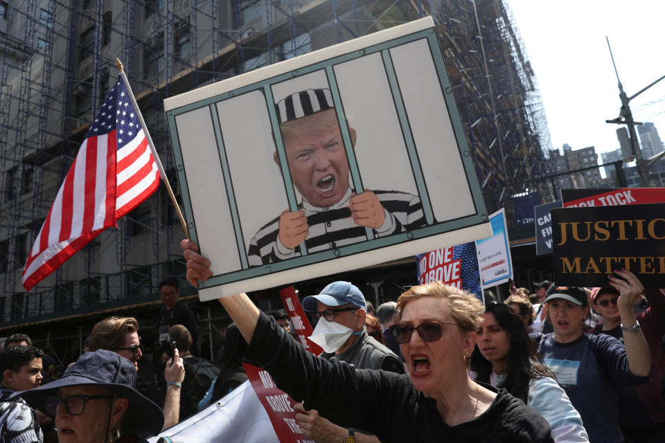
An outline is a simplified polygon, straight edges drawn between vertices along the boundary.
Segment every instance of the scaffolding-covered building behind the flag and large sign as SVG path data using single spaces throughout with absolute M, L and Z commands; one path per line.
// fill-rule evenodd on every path
M 132 305 L 184 278 L 166 191 L 30 293 L 21 269 L 98 105 L 125 64 L 172 183 L 163 99 L 432 15 L 488 210 L 547 175 L 538 83 L 502 0 L 0 1 L 0 320 Z M 2 9 L 0 9 L 0 12 Z M 520 185 L 511 185 L 520 183 Z M 510 186 L 508 186 L 510 185 Z M 535 189 L 549 201 L 549 188 Z M 177 186 L 175 186 L 177 193 Z M 530 192 L 530 191 L 529 191 Z M 98 308 L 97 308 L 98 309 Z M 55 313 L 55 314 L 54 314 Z

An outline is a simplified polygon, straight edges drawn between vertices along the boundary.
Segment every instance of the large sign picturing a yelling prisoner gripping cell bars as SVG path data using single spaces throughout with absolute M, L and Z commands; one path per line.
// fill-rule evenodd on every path
M 164 106 L 202 300 L 491 235 L 429 17 Z

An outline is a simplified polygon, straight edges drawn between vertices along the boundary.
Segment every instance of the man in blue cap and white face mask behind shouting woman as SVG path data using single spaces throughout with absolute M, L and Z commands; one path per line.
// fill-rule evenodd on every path
M 353 284 L 330 283 L 316 296 L 305 297 L 303 308 L 319 317 L 310 340 L 323 348 L 323 358 L 346 361 L 358 369 L 404 373 L 398 356 L 365 331 L 365 298 Z M 337 426 L 319 416 L 316 410 L 305 410 L 302 404 L 296 404 L 295 408 L 299 411 L 296 419 L 301 429 L 314 442 L 379 442 L 374 435 Z

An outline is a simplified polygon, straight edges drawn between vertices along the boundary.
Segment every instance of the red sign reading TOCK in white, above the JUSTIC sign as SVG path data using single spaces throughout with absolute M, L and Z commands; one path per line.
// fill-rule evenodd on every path
M 562 189 L 564 208 L 665 203 L 665 188 Z

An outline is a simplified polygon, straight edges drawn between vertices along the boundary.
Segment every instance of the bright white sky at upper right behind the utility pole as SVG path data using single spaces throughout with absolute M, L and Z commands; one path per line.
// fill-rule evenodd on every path
M 665 75 L 663 0 L 508 0 L 540 86 L 553 147 L 619 147 L 621 100 Z M 665 140 L 665 79 L 630 100 L 633 118 Z M 625 125 L 623 125 L 625 127 Z M 601 163 L 600 155 L 598 156 Z

